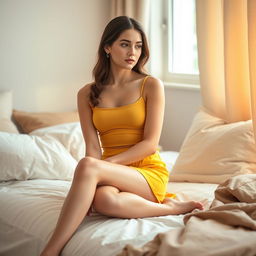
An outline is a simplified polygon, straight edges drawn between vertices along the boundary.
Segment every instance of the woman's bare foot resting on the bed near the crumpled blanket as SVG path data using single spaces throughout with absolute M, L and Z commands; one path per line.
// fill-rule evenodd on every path
M 163 204 L 170 206 L 170 214 L 172 215 L 185 214 L 193 211 L 194 209 L 204 209 L 203 204 L 197 201 L 180 202 L 175 199 L 165 198 Z

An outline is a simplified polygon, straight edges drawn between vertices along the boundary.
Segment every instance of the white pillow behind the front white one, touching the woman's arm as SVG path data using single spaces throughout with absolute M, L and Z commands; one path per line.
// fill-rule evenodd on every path
M 30 134 L 58 140 L 77 161 L 85 156 L 85 142 L 79 122 L 40 128 Z

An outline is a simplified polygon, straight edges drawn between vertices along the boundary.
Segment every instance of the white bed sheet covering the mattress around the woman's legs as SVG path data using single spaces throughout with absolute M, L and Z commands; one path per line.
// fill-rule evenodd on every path
M 0 183 L 0 255 L 36 256 L 56 224 L 69 181 L 27 180 Z M 210 203 L 217 184 L 169 183 L 179 200 Z M 156 234 L 183 226 L 183 215 L 144 219 L 87 217 L 63 256 L 113 256 L 126 244 L 141 246 Z

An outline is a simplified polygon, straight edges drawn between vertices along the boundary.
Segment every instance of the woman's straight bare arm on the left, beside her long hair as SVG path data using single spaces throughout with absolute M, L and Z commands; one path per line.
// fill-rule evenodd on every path
M 79 90 L 77 95 L 78 113 L 86 145 L 86 156 L 101 159 L 101 148 L 97 131 L 92 121 L 92 109 L 89 104 L 90 84 Z

